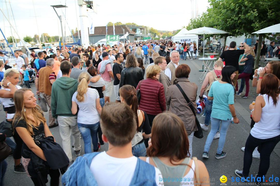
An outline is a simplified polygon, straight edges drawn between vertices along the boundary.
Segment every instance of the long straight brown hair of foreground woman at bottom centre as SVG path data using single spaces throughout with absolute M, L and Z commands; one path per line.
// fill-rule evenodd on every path
M 175 114 L 165 111 L 153 120 L 150 157 L 169 157 L 170 162 L 189 157 L 188 134 L 183 121 Z

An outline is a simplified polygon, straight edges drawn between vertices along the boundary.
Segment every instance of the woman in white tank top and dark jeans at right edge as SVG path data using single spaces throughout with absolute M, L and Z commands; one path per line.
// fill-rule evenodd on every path
M 255 105 L 250 104 L 252 118 L 256 122 L 245 145 L 243 171 L 235 170 L 239 177 L 248 177 L 252 164 L 252 153 L 256 147 L 260 152 L 260 166 L 255 177 L 263 177 L 269 169 L 269 158 L 280 141 L 280 96 L 279 80 L 274 74 L 263 77 L 260 95 Z

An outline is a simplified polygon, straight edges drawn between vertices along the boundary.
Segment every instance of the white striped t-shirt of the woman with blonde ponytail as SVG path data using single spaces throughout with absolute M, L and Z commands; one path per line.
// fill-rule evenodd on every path
M 83 102 L 77 100 L 77 93 L 78 91 L 72 96 L 72 101 L 76 102 L 79 107 L 77 122 L 81 124 L 95 124 L 99 122 L 96 109 L 96 99 L 99 98 L 98 91 L 94 88 L 88 88 L 84 94 Z

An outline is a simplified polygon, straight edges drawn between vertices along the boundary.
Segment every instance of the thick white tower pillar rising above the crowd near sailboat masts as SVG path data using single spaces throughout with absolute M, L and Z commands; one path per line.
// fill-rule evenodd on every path
M 82 5 L 79 5 L 79 12 L 80 12 L 80 24 L 81 24 L 81 45 L 87 47 L 89 46 L 88 17 L 87 17 L 87 5 L 84 1 Z

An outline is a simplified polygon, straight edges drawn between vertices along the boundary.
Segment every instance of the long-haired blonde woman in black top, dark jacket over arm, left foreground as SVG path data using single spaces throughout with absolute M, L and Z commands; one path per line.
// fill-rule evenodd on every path
M 53 137 L 53 135 L 46 124 L 44 113 L 36 105 L 36 98 L 30 89 L 22 88 L 15 91 L 14 101 L 16 113 L 13 119 L 13 126 L 24 142 L 22 145 L 22 163 L 27 176 L 30 177 L 27 166 L 30 162 L 31 151 L 47 161 L 43 150 L 35 144 L 34 140 L 40 140 L 48 136 Z M 49 174 L 51 185 L 59 185 L 59 170 L 49 169 Z M 39 185 L 37 178 L 31 177 L 31 180 L 34 185 Z

